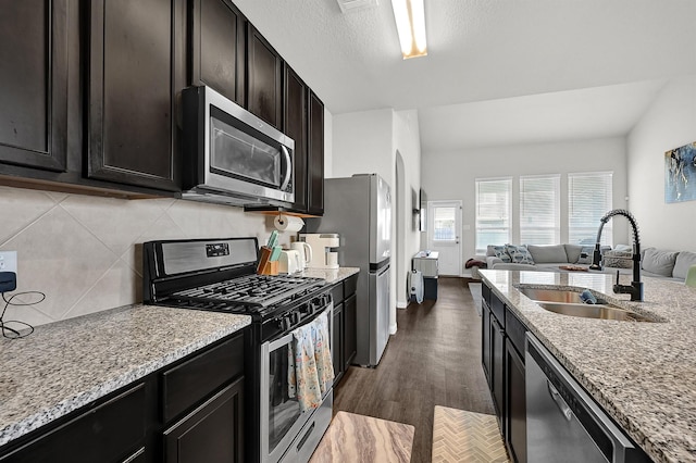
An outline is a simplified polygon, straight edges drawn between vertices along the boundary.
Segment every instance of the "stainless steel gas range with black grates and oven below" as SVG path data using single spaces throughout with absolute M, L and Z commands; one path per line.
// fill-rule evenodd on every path
M 333 388 L 319 408 L 300 411 L 286 383 L 288 350 L 294 329 L 324 314 L 333 320 L 325 281 L 256 275 L 256 238 L 150 241 L 144 260 L 145 303 L 251 316 L 245 338 L 245 461 L 309 460 L 331 422 Z

